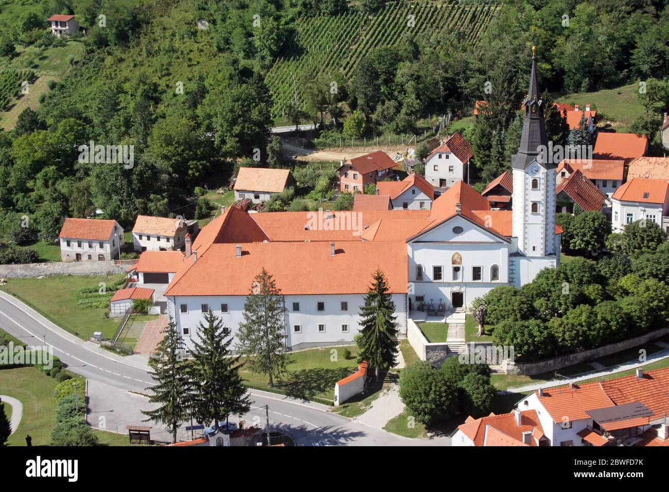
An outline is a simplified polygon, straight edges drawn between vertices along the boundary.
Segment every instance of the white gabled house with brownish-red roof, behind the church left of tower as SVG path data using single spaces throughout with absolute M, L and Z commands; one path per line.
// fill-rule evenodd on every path
M 425 179 L 434 187 L 449 188 L 467 180 L 472 144 L 454 133 L 425 159 Z

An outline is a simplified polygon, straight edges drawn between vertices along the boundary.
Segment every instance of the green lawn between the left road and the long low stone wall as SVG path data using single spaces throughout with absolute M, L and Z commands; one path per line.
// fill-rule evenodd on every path
M 96 287 L 100 282 L 113 284 L 122 274 L 111 276 L 54 275 L 45 278 L 11 278 L 0 289 L 17 297 L 35 311 L 70 333 L 88 340 L 94 331 L 114 335 L 120 319 L 106 317 L 106 308 L 77 305 L 77 291 Z

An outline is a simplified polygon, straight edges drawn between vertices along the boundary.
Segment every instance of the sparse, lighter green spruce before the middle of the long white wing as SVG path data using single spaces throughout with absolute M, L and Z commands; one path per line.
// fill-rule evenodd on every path
M 274 388 L 274 378 L 286 372 L 288 362 L 285 312 L 284 297 L 272 275 L 263 268 L 246 297 L 237 349 L 249 357 L 252 372 L 268 375 L 270 388 Z

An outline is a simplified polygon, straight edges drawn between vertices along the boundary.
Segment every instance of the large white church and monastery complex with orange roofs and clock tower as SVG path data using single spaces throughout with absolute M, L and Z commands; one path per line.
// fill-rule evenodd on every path
M 409 318 L 445 318 L 496 286 L 520 287 L 559 264 L 556 166 L 539 158 L 547 135 L 535 56 L 522 107 L 522 138 L 511 162 L 513 210 L 491 210 L 464 181 L 429 210 L 326 211 L 314 221 L 315 212 L 251 214 L 232 206 L 192 245 L 187 238 L 185 254 L 157 262 L 153 256 L 165 252 L 145 252 L 134 269 L 146 274 L 160 264 L 170 274 L 167 313 L 189 349 L 209 309 L 235 335 L 262 268 L 284 296 L 291 349 L 352 343 L 377 268 L 387 278 L 405 336 Z

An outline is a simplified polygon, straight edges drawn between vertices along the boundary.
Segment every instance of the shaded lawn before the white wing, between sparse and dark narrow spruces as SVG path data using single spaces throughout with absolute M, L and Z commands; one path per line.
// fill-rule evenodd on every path
M 343 356 L 345 348 L 351 351 L 348 359 Z M 249 388 L 332 405 L 334 384 L 357 370 L 357 355 L 358 347 L 355 345 L 289 353 L 288 374 L 278 382 L 275 380 L 274 388 L 268 386 L 266 374 L 255 374 L 250 367 L 244 367 L 240 374 Z

